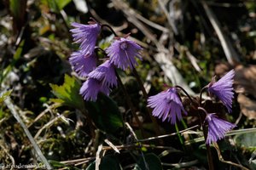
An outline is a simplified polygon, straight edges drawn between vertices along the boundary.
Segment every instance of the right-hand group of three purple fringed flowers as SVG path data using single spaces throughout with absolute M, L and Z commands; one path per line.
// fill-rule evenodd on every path
M 231 70 L 219 79 L 218 82 L 214 79 L 207 85 L 208 93 L 220 99 L 226 106 L 228 112 L 232 110 L 232 99 L 234 98 L 234 88 L 232 85 L 234 76 L 235 71 Z M 148 106 L 154 108 L 153 116 L 161 118 L 162 121 L 168 118 L 168 121 L 171 121 L 172 124 L 182 119 L 182 112 L 184 115 L 187 115 L 182 101 L 177 94 L 176 87 L 169 88 L 160 94 L 149 97 Z M 205 112 L 207 114 L 205 122 L 208 125 L 207 144 L 212 144 L 212 142 L 216 142 L 218 139 L 223 139 L 225 133 L 236 127 L 236 125 L 218 118 L 214 113 Z

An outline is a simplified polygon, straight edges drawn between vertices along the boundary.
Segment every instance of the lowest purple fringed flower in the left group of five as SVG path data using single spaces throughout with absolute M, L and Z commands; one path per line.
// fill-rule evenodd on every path
M 88 78 L 83 86 L 80 88 L 79 94 L 82 94 L 86 101 L 96 101 L 97 95 L 102 92 L 103 94 L 109 95 L 110 89 L 107 85 L 96 80 L 95 78 Z

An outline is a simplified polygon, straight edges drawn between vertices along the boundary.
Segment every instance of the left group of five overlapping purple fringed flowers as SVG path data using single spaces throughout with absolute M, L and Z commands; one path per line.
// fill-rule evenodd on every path
M 115 66 L 124 71 L 128 67 L 133 69 L 137 65 L 136 57 L 141 59 L 139 52 L 142 48 L 127 37 L 116 38 L 106 49 L 107 59 L 97 67 L 95 48 L 102 25 L 91 21 L 89 25 L 72 23 L 71 26 L 74 27 L 71 30 L 73 41 L 79 43 L 79 51 L 71 54 L 69 62 L 79 77 L 87 77 L 79 93 L 84 100 L 96 101 L 100 92 L 109 95 L 111 88 L 117 86 Z

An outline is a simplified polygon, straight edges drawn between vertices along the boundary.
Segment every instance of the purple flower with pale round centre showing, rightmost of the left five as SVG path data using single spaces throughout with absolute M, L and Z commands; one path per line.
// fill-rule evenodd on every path
M 110 57 L 110 62 L 113 63 L 113 65 L 125 71 L 128 66 L 133 69 L 133 67 L 137 65 L 135 57 L 141 59 L 139 54 L 141 49 L 143 48 L 137 45 L 136 42 L 121 37 L 116 39 L 110 47 L 106 49 L 106 53 Z

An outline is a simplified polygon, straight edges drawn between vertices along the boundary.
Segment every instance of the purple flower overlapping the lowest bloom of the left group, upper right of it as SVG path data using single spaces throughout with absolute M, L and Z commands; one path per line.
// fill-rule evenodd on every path
M 108 87 L 117 86 L 114 67 L 109 60 L 105 61 L 102 65 L 99 65 L 96 70 L 91 71 L 88 77 L 95 78 L 106 84 Z

